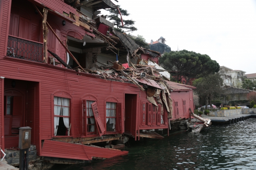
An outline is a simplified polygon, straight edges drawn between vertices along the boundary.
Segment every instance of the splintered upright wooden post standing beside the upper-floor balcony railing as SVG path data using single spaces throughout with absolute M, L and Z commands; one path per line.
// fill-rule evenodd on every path
M 47 13 L 48 13 L 48 8 L 43 9 L 44 15 L 43 15 L 43 38 L 44 38 L 44 62 L 47 63 L 48 58 L 47 58 L 47 37 L 48 37 L 48 27 L 46 25 L 46 19 L 47 19 Z

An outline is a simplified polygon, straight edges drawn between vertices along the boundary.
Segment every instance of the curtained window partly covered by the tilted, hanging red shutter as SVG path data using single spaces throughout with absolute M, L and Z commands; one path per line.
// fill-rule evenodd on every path
M 86 126 L 87 134 L 95 134 L 95 119 L 91 104 L 95 101 L 86 101 Z

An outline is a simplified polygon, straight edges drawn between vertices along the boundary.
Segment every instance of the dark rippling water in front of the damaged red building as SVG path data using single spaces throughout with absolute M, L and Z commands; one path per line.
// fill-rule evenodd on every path
M 256 119 L 214 125 L 199 134 L 130 141 L 129 154 L 51 170 L 256 170 Z

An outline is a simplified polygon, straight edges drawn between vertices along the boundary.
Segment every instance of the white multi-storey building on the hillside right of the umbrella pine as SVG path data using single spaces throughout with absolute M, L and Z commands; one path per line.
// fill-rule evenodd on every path
M 241 88 L 242 81 L 245 79 L 246 71 L 233 70 L 226 66 L 221 66 L 219 73 L 221 73 L 221 76 L 223 78 L 223 86 L 224 87 L 226 87 L 226 88 L 228 88 L 228 87 Z

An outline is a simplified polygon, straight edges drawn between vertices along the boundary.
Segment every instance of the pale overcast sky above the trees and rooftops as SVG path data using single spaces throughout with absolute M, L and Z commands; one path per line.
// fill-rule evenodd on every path
M 147 42 L 207 54 L 220 66 L 256 73 L 256 0 L 112 0 Z M 101 10 L 107 15 L 108 11 Z

